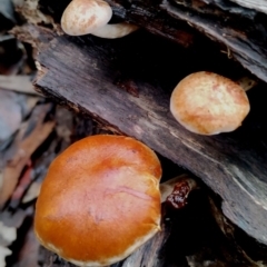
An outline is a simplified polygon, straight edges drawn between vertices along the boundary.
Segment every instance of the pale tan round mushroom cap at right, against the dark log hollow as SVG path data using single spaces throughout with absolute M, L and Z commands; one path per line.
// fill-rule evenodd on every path
M 200 135 L 235 130 L 249 109 L 247 95 L 239 85 L 207 71 L 184 78 L 170 98 L 170 111 L 178 122 Z

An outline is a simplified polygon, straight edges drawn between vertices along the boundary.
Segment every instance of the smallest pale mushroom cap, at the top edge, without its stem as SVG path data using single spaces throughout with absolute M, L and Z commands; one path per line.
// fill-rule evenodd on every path
M 61 17 L 62 30 L 70 36 L 83 36 L 103 27 L 112 9 L 102 0 L 72 0 Z

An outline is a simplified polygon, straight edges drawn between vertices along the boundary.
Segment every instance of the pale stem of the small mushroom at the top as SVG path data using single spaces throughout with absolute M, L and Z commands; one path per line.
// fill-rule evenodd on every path
M 92 31 L 91 34 L 100 38 L 115 39 L 125 37 L 138 29 L 139 29 L 138 26 L 121 22 L 116 24 L 106 24 Z

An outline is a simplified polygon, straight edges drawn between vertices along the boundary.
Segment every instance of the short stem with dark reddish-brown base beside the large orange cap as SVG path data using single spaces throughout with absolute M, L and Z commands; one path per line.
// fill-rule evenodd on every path
M 197 182 L 188 175 L 177 176 L 159 185 L 161 204 L 168 202 L 179 209 L 186 206 L 188 195 L 197 188 Z

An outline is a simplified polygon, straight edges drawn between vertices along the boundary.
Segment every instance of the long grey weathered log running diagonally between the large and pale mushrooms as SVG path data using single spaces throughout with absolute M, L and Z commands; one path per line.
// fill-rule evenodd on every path
M 190 56 L 175 43 L 142 31 L 120 40 L 66 36 L 49 39 L 40 28 L 26 31 L 42 39 L 36 81 L 42 93 L 110 125 L 118 134 L 136 137 L 199 176 L 221 197 L 225 215 L 267 245 L 264 85 L 248 92 L 251 112 L 237 131 L 197 136 L 180 127 L 170 115 L 170 91 L 196 68 L 216 69 L 214 58 L 204 62 L 202 55 Z M 156 50 L 151 49 L 154 46 Z M 211 48 L 206 49 L 212 53 Z M 228 76 L 233 70 L 244 71 L 217 56 L 214 55 L 221 66 L 217 71 Z

